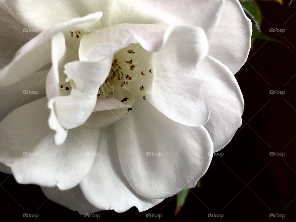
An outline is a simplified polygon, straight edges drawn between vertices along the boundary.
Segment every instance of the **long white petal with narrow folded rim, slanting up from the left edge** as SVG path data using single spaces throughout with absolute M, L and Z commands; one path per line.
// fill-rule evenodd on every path
M 31 73 L 47 65 L 51 59 L 50 41 L 55 34 L 81 23 L 91 23 L 100 20 L 101 12 L 75 18 L 59 23 L 41 32 L 17 52 L 14 60 L 0 71 L 0 86 L 9 86 L 29 76 Z

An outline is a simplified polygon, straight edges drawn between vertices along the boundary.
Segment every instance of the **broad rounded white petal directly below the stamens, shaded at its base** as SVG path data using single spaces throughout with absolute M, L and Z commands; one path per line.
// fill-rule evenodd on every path
M 115 128 L 122 124 L 116 131 L 118 156 L 130 185 L 147 198 L 196 186 L 212 159 L 207 130 L 176 123 L 149 102 L 138 106 L 124 124 L 115 123 Z

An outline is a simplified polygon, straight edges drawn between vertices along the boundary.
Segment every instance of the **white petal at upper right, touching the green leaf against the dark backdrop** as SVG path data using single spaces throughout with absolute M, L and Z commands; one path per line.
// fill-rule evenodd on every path
M 209 40 L 208 55 L 221 61 L 235 74 L 247 60 L 251 35 L 252 23 L 245 15 L 240 2 L 225 0 L 219 25 Z

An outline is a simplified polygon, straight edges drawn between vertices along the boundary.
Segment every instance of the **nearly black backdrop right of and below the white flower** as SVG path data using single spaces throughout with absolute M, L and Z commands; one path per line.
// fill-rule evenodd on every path
M 35 220 L 23 218 L 23 213 L 30 212 L 39 215 L 37 220 L 282 221 L 270 218 L 273 213 L 284 214 L 284 221 L 296 221 L 296 2 L 290 7 L 288 3 L 259 2 L 262 31 L 283 44 L 271 39 L 254 41 L 248 61 L 235 75 L 245 99 L 242 127 L 221 151 L 223 156 L 213 157 L 201 187 L 191 189 L 176 217 L 176 197 L 172 197 L 142 213 L 133 207 L 124 213 L 101 211 L 99 219 L 84 218 L 47 200 L 39 186 L 18 184 L 12 175 L 3 173 L 1 217 Z M 269 28 L 286 31 L 270 33 Z M 269 94 L 269 90 L 285 94 Z M 270 156 L 272 151 L 285 156 Z M 146 218 L 147 213 L 162 218 Z M 208 218 L 209 213 L 224 217 Z

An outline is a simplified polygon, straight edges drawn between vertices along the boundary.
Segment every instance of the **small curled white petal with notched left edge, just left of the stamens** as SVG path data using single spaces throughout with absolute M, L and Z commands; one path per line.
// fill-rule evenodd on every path
M 64 73 L 71 81 L 71 94 L 56 98 L 60 124 L 67 129 L 84 124 L 97 102 L 97 93 L 111 69 L 113 56 L 97 62 L 73 61 L 65 65 Z

